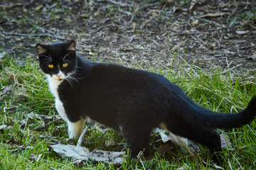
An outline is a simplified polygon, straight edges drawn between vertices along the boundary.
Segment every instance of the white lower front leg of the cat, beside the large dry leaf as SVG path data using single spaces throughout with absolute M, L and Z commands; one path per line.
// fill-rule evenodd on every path
M 68 134 L 69 138 L 78 138 L 82 133 L 82 128 L 84 128 L 85 119 L 78 120 L 75 123 L 72 123 L 68 120 Z

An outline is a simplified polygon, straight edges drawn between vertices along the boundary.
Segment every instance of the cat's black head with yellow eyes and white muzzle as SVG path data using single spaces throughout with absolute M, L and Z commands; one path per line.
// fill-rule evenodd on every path
M 76 66 L 75 41 L 36 45 L 40 68 L 48 77 L 62 81 L 73 74 Z

